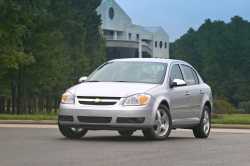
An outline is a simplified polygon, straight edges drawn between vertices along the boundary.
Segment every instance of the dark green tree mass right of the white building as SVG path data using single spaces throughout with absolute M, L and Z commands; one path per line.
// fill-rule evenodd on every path
M 229 23 L 208 19 L 171 44 L 171 56 L 193 64 L 212 85 L 215 96 L 237 106 L 250 100 L 249 45 L 250 22 L 239 16 Z

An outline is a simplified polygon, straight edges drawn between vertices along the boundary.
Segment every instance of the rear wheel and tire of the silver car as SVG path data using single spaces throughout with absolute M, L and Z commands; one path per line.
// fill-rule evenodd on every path
M 203 108 L 202 118 L 199 126 L 193 129 L 196 138 L 208 138 L 211 130 L 211 111 L 208 106 Z

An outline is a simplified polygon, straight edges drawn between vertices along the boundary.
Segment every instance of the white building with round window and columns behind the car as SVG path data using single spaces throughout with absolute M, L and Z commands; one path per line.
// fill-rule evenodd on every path
M 108 59 L 169 58 L 169 36 L 163 28 L 133 24 L 115 0 L 103 0 L 97 12 L 102 18 Z

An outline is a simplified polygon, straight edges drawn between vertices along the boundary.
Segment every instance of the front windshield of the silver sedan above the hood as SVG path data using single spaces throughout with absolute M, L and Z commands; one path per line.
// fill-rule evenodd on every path
M 109 62 L 90 75 L 87 82 L 161 84 L 167 64 L 158 62 Z

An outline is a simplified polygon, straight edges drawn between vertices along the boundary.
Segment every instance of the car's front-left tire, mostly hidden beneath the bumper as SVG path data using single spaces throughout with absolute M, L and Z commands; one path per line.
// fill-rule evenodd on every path
M 58 128 L 61 134 L 69 139 L 80 139 L 88 132 L 88 130 L 85 130 L 83 128 L 72 128 L 61 124 L 58 124 Z

